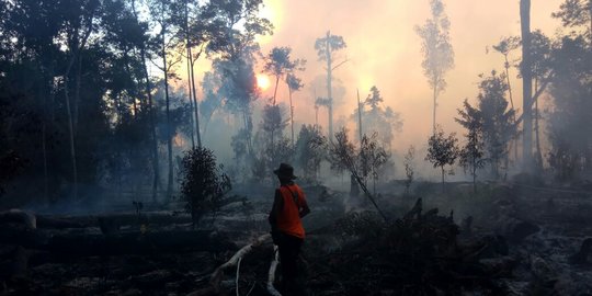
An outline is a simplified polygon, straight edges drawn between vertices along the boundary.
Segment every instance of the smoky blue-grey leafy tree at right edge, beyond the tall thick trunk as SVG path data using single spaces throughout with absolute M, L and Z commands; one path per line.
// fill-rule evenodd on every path
M 583 36 L 565 36 L 553 50 L 547 133 L 548 161 L 559 181 L 592 171 L 592 48 Z

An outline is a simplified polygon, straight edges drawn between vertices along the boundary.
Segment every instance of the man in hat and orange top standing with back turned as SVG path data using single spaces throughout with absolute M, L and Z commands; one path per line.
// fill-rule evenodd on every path
M 269 221 L 272 227 L 273 242 L 280 251 L 282 263 L 282 293 L 284 295 L 301 295 L 304 287 L 296 284 L 298 277 L 297 260 L 305 238 L 300 218 L 310 209 L 303 190 L 294 183 L 294 168 L 281 163 L 273 171 L 280 179 L 280 187 L 275 190 L 273 207 Z

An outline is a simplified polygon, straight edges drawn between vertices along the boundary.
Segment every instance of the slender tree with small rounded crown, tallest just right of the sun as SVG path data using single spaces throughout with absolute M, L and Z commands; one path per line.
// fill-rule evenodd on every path
M 332 141 L 333 137 L 333 95 L 332 95 L 332 80 L 333 80 L 333 70 L 339 68 L 341 65 L 343 65 L 346 59 L 338 62 L 335 66 L 333 64 L 335 62 L 334 59 L 334 53 L 345 48 L 345 42 L 343 41 L 342 36 L 338 35 L 331 35 L 330 31 L 327 31 L 327 34 L 325 37 L 317 38 L 315 42 L 315 49 L 317 50 L 317 56 L 319 57 L 319 60 L 327 61 L 327 110 L 329 113 L 329 140 Z

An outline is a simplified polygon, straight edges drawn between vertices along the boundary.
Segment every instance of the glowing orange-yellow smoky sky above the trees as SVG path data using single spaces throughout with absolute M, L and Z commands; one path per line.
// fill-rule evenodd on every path
M 550 18 L 561 0 L 533 0 L 533 30 L 540 29 L 554 35 L 560 23 Z M 414 32 L 430 16 L 429 0 L 320 0 L 284 1 L 264 0 L 262 14 L 275 25 L 274 35 L 261 39 L 262 52 L 274 46 L 289 46 L 294 58 L 308 60 L 300 76 L 310 81 L 325 73 L 318 61 L 314 44 L 316 38 L 331 30 L 341 35 L 348 47 L 340 53 L 350 61 L 334 72 L 346 88 L 346 102 L 335 109 L 337 119 L 355 109 L 355 92 L 362 100 L 372 86 L 378 87 L 385 103 L 401 113 L 403 129 L 396 135 L 394 148 L 399 152 L 410 144 L 423 146 L 431 133 L 432 94 L 423 77 L 421 39 Z M 503 57 L 491 50 L 501 37 L 520 35 L 519 0 L 444 0 L 451 21 L 451 39 L 455 52 L 455 68 L 447 76 L 447 89 L 440 95 L 436 122 L 445 130 L 460 130 L 454 122 L 456 109 L 464 99 L 475 102 L 479 73 L 492 69 L 503 70 Z M 489 54 L 486 48 L 489 48 Z M 511 54 L 520 57 L 520 49 Z M 514 104 L 522 105 L 521 81 L 511 69 Z M 271 89 L 267 95 L 271 95 Z M 317 89 L 317 95 L 326 90 Z M 306 86 L 295 93 L 297 122 L 315 122 L 314 95 Z M 287 102 L 287 89 L 281 86 L 278 101 Z M 319 122 L 326 126 L 327 112 L 319 112 Z

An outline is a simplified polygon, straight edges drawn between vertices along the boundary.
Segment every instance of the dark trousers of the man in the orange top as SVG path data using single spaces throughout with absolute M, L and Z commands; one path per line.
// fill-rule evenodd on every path
M 298 255 L 303 246 L 303 239 L 286 234 L 278 236 L 276 241 L 282 267 L 282 293 L 283 295 L 303 295 L 300 291 L 301 276 L 298 274 Z

